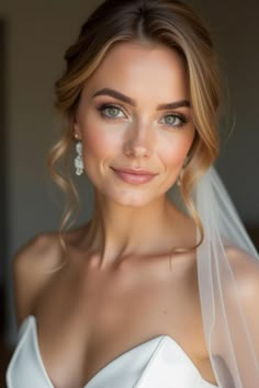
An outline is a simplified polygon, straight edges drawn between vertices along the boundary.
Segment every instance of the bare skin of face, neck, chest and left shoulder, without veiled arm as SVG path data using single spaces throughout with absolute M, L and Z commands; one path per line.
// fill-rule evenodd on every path
M 111 95 L 93 98 L 104 88 L 136 106 Z M 159 334 L 174 339 L 203 378 L 215 383 L 195 252 L 172 253 L 195 244 L 193 221 L 166 196 L 195 130 L 187 103 L 159 112 L 157 105 L 179 101 L 189 101 L 184 65 L 164 46 L 117 45 L 85 84 L 74 130 L 94 185 L 92 219 L 67 233 L 60 271 L 52 272 L 65 259 L 57 233 L 37 237 L 14 261 L 19 322 L 36 317 L 41 355 L 57 388 L 85 386 L 116 356 Z M 105 109 L 103 116 L 103 103 L 120 109 Z M 179 115 L 188 123 L 179 126 Z M 111 167 L 142 168 L 156 176 L 132 185 Z

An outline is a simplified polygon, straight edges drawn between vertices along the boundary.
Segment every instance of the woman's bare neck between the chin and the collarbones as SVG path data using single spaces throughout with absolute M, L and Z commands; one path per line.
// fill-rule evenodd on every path
M 158 254 L 173 248 L 174 218 L 179 212 L 167 196 L 144 207 L 121 206 L 95 193 L 87 244 L 102 265 L 132 254 Z

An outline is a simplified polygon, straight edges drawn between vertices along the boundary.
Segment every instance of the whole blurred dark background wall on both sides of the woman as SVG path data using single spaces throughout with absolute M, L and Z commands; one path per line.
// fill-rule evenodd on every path
M 1 53 L 0 66 L 3 150 L 0 284 L 5 289 L 9 344 L 15 341 L 12 256 L 38 232 L 57 229 L 63 209 L 61 196 L 46 171 L 47 150 L 58 127 L 53 85 L 64 68 L 65 48 L 78 34 L 86 15 L 100 2 L 2 0 L 0 3 L 4 26 L 4 56 Z M 235 112 L 236 125 L 228 140 L 224 130 L 218 169 L 241 218 L 256 230 L 259 227 L 259 2 L 190 0 L 189 3 L 201 11 L 211 26 L 228 79 L 232 113 Z M 228 133 L 232 123 L 233 116 Z M 88 218 L 91 191 L 87 187 L 81 192 L 86 197 L 85 218 Z

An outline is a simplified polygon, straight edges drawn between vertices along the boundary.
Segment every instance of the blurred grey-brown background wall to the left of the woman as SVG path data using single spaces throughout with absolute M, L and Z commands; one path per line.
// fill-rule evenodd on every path
M 14 343 L 16 332 L 13 254 L 38 232 L 57 229 L 63 210 L 63 197 L 46 169 L 47 151 L 58 134 L 54 82 L 64 69 L 65 49 L 97 3 L 0 2 L 0 290 L 4 288 L 5 294 L 3 297 L 1 292 L 0 296 L 0 322 L 4 310 L 4 340 L 9 345 Z M 0 368 L 1 349 L 0 335 Z

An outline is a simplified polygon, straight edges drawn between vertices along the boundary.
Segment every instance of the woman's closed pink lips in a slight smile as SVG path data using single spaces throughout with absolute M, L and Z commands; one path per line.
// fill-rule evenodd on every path
M 122 168 L 122 169 L 113 169 L 116 176 L 130 184 L 143 184 L 151 181 L 157 173 L 151 171 L 142 170 L 142 169 L 131 169 L 131 168 Z

